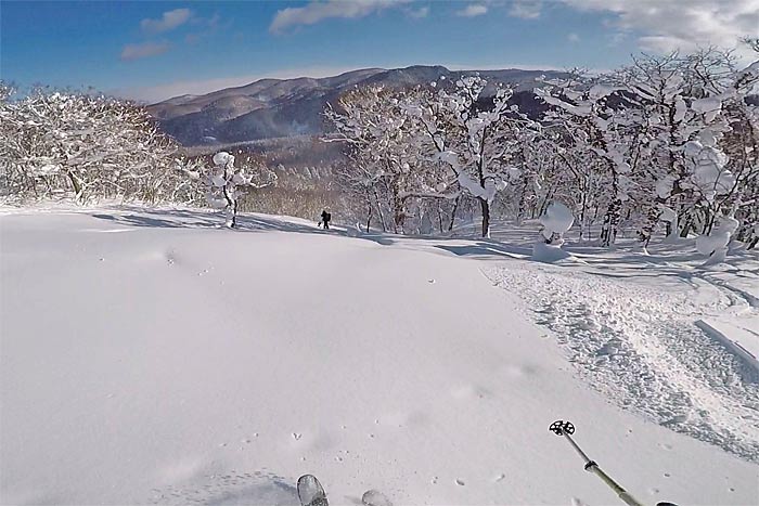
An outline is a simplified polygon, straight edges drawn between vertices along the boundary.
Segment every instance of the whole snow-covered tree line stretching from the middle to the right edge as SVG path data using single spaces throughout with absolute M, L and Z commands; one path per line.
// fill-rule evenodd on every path
M 517 220 L 565 204 L 580 237 L 604 246 L 633 229 L 644 245 L 724 231 L 759 237 L 759 62 L 709 48 L 641 55 L 601 75 L 541 81 L 549 105 L 530 118 L 507 85 L 469 76 L 410 90 L 352 90 L 325 116 L 327 142 L 350 163 L 339 181 L 366 226 L 452 229 L 474 204 L 488 236 L 493 209 Z M 446 225 L 443 226 L 443 222 Z

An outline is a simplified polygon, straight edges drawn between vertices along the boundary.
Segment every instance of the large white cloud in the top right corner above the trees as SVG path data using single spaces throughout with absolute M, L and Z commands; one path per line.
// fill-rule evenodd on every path
M 562 1 L 582 11 L 614 14 L 613 26 L 635 33 L 646 51 L 692 51 L 709 44 L 733 48 L 742 36 L 759 36 L 759 0 Z M 748 56 L 748 51 L 743 54 Z

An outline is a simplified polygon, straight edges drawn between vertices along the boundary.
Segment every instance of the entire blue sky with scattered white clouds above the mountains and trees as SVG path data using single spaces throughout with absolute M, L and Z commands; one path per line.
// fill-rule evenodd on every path
M 0 76 L 154 101 L 361 67 L 613 68 L 735 46 L 757 0 L 0 1 Z

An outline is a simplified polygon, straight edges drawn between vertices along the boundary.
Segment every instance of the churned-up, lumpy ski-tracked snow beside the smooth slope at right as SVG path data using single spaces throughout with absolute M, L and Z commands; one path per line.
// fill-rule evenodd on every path
M 759 463 L 759 374 L 695 321 L 712 312 L 756 311 L 756 300 L 710 275 L 684 276 L 718 294 L 692 294 L 632 280 L 520 263 L 485 270 L 533 308 L 579 374 L 622 408 Z

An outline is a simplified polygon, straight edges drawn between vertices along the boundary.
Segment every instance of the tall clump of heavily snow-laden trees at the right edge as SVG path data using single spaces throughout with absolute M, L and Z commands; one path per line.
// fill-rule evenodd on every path
M 566 202 L 579 199 L 583 209 L 591 202 L 602 212 L 604 245 L 614 243 L 622 221 L 638 229 L 644 246 L 659 221 L 672 236 L 685 236 L 708 234 L 720 217 L 735 216 L 736 235 L 751 237 L 757 129 L 748 95 L 758 79 L 759 63 L 737 70 L 730 53 L 706 49 L 643 55 L 613 74 L 546 81 L 538 93 L 552 106 L 542 124 L 554 135 L 540 142 L 555 143 L 543 153 L 565 170 L 544 163 L 537 172 L 576 195 Z M 593 184 L 588 198 L 588 185 L 578 181 L 601 185 Z

